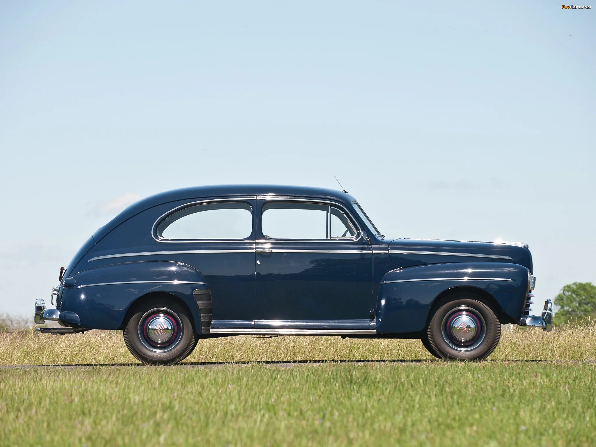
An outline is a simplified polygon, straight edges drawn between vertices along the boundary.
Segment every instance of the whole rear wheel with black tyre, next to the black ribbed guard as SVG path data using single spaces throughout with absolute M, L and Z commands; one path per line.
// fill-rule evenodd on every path
M 124 332 L 126 347 L 146 365 L 172 365 L 197 344 L 187 312 L 167 299 L 151 299 L 135 309 Z

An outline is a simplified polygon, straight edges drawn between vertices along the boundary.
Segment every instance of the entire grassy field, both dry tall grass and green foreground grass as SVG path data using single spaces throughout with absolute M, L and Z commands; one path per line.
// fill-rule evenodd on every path
M 516 327 L 489 359 L 437 361 L 420 340 L 231 337 L 186 361 L 218 367 L 21 369 L 136 361 L 119 331 L 0 333 L 0 446 L 596 445 L 596 321 Z M 324 363 L 242 363 L 298 360 Z

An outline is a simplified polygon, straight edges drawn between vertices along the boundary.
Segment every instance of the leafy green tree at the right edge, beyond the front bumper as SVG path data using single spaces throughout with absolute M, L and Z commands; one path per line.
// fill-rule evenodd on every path
M 555 322 L 566 323 L 570 319 L 586 316 L 596 318 L 596 285 L 592 283 L 567 284 L 554 300 L 557 309 Z

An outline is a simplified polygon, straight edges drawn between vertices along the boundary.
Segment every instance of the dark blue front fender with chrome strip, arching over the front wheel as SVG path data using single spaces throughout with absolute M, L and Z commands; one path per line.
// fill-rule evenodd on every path
M 519 321 L 526 302 L 527 268 L 501 262 L 420 265 L 383 277 L 377 297 L 377 333 L 418 332 L 426 328 L 434 300 L 456 287 L 490 294 L 500 311 Z

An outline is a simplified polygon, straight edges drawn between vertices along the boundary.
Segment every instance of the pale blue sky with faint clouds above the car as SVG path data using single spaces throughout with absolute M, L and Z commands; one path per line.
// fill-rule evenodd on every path
M 594 14 L 2 2 L 0 313 L 136 198 L 332 173 L 388 237 L 529 243 L 538 301 L 596 282 Z

